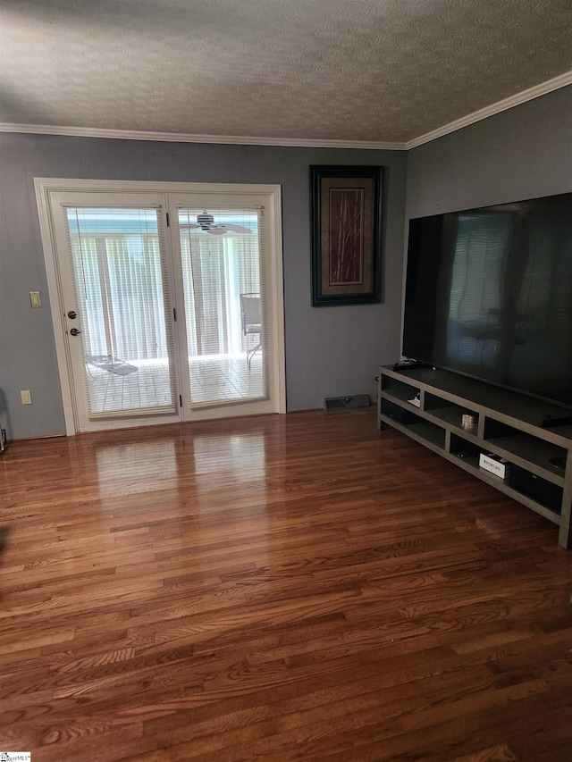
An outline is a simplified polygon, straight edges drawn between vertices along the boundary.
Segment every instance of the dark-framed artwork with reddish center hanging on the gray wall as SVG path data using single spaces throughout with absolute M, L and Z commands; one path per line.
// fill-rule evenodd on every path
M 311 166 L 312 306 L 381 300 L 383 167 Z

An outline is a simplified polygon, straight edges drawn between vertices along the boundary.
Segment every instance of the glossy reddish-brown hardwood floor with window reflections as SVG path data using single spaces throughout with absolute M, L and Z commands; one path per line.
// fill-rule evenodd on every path
M 374 410 L 13 442 L 0 749 L 572 758 L 572 552 Z

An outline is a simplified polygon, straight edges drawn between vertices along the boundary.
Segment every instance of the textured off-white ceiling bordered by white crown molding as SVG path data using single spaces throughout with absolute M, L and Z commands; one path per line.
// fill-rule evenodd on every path
M 403 144 L 571 43 L 572 0 L 0 0 L 0 122 Z

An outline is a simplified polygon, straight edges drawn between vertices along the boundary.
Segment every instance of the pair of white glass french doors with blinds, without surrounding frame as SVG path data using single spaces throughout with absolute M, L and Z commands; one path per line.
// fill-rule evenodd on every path
M 51 201 L 77 431 L 274 412 L 263 204 Z

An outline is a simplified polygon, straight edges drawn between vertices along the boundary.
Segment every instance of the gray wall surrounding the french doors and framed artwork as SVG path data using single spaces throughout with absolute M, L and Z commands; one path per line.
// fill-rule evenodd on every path
M 310 306 L 312 163 L 385 167 L 382 304 Z M 298 410 L 374 396 L 378 364 L 399 356 L 406 164 L 399 151 L 0 134 L 0 423 L 9 438 L 64 431 L 34 177 L 282 184 L 287 406 Z M 29 305 L 36 290 L 40 310 Z

